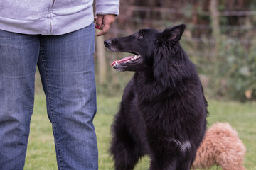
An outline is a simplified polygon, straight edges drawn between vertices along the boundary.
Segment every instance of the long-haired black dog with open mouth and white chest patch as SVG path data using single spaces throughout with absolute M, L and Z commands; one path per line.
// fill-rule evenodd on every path
M 179 44 L 185 27 L 105 40 L 108 50 L 135 55 L 112 64 L 135 72 L 112 125 L 115 169 L 134 169 L 144 154 L 151 170 L 187 170 L 193 163 L 208 111 L 196 67 Z

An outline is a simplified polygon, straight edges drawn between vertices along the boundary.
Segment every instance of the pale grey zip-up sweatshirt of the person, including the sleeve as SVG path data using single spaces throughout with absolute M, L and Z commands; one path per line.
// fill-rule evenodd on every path
M 0 30 L 62 35 L 93 22 L 93 0 L 0 1 Z M 96 14 L 119 15 L 119 0 L 96 0 Z

